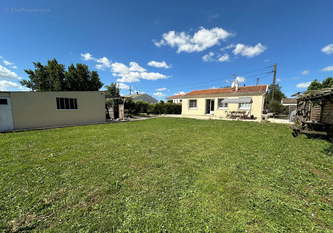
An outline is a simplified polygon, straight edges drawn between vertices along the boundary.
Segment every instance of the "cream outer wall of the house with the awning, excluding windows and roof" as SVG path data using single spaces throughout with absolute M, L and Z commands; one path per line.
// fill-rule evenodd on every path
M 218 109 L 218 102 L 217 100 L 222 98 L 243 98 L 243 97 L 252 97 L 252 106 L 251 109 L 238 109 L 238 103 L 229 103 L 227 109 Z M 224 111 L 248 111 L 251 110 L 251 115 L 254 117 L 260 118 L 264 99 L 266 98 L 265 93 L 245 93 L 245 94 L 238 94 L 238 95 L 230 95 L 230 94 L 219 94 L 219 95 L 204 95 L 204 96 L 183 96 L 182 97 L 182 115 L 196 115 L 196 116 L 203 116 L 206 114 L 206 100 L 207 99 L 214 99 L 214 114 L 213 116 L 225 117 Z M 188 100 L 196 99 L 197 100 L 197 109 L 188 109 Z M 210 115 L 210 114 L 209 114 Z M 249 115 L 250 117 L 250 115 Z

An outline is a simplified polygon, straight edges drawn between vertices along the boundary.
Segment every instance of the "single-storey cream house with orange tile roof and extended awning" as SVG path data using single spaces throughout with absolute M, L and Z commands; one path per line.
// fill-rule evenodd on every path
M 268 85 L 195 90 L 182 96 L 182 115 L 225 117 L 225 111 L 248 111 L 249 117 L 261 117 Z

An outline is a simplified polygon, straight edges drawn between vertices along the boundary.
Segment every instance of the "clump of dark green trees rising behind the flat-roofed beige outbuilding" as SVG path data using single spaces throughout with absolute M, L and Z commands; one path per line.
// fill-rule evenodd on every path
M 60 64 L 54 58 L 48 60 L 47 65 L 33 62 L 35 70 L 24 70 L 29 75 L 29 80 L 19 81 L 36 91 L 98 91 L 103 83 L 97 71 L 89 71 L 88 66 L 77 63 L 71 64 L 68 71 L 65 65 Z

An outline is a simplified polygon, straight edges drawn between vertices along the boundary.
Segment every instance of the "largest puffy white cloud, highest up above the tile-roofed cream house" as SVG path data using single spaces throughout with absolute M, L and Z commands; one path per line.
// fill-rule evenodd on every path
M 177 53 L 180 52 L 200 52 L 214 45 L 219 45 L 220 40 L 225 40 L 228 37 L 234 36 L 234 33 L 228 32 L 222 28 L 200 29 L 194 33 L 193 36 L 186 32 L 169 31 L 162 34 L 162 40 L 153 40 L 157 47 L 162 45 L 169 45 L 174 48 L 177 47 Z

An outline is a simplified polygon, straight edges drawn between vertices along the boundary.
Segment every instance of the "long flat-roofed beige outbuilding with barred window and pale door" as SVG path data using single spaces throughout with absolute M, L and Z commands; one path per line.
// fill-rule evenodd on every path
M 105 121 L 101 91 L 0 92 L 0 131 Z

